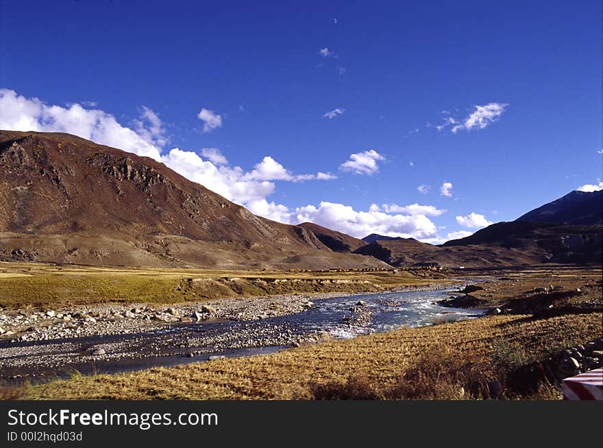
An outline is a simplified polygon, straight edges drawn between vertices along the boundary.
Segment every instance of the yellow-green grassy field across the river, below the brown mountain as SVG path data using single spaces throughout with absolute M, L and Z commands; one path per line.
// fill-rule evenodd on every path
M 0 306 L 171 304 L 288 293 L 353 293 L 443 281 L 408 272 L 127 269 L 0 263 Z

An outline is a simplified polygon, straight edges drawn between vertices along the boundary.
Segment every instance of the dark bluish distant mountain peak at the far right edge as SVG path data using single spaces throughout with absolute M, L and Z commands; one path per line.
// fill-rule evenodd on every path
M 603 224 L 603 190 L 579 192 L 575 190 L 528 211 L 515 221 L 553 222 L 555 224 Z

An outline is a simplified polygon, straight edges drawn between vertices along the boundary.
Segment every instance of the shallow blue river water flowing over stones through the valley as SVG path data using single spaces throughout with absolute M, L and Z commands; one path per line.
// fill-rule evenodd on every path
M 162 330 L 52 341 L 0 344 L 0 379 L 38 380 L 80 373 L 115 373 L 282 350 L 291 341 L 352 338 L 395 328 L 471 319 L 480 310 L 436 304 L 443 291 L 408 291 L 317 300 L 307 311 L 256 321 L 174 324 Z M 358 305 L 358 302 L 365 304 Z M 319 335 L 319 336 L 317 336 Z M 92 356 L 92 348 L 105 355 Z

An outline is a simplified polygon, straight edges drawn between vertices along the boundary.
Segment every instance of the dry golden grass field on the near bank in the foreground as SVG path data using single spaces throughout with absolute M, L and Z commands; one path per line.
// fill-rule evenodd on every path
M 24 399 L 556 399 L 558 388 L 547 375 L 556 356 L 600 337 L 602 330 L 601 313 L 484 317 L 265 356 L 75 376 L 5 394 Z M 493 391 L 495 381 L 500 392 Z

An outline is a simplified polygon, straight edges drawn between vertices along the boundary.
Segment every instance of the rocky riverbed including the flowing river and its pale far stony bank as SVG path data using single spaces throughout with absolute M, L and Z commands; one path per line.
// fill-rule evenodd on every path
M 440 285 L 441 288 L 441 285 Z M 428 290 L 428 291 L 425 291 Z M 102 305 L 4 313 L 0 377 L 143 369 L 354 337 L 450 315 L 431 286 L 402 293 L 280 295 L 179 306 Z M 477 317 L 457 310 L 457 319 Z M 8 325 L 7 325 L 8 324 Z M 32 328 L 32 329 L 30 329 Z

